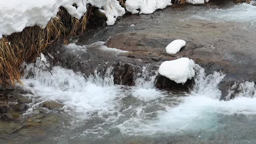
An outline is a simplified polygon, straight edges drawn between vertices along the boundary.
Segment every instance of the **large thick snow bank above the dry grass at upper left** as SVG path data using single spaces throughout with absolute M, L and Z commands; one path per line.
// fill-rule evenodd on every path
M 77 8 L 72 6 L 74 3 Z M 21 32 L 28 26 L 38 25 L 45 28 L 48 21 L 56 17 L 60 6 L 66 8 L 71 16 L 80 19 L 88 4 L 103 8 L 108 25 L 113 25 L 116 18 L 125 13 L 116 0 L 1 0 L 0 38 L 2 35 Z

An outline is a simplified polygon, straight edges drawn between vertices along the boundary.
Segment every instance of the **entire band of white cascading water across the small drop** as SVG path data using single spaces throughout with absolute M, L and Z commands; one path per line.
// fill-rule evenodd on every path
M 147 66 L 135 77 L 134 87 L 114 85 L 112 69 L 84 78 L 58 66 L 52 69 L 54 76 L 39 68 L 35 78 L 22 80 L 35 94 L 28 112 L 44 100 L 63 102 L 64 111 L 73 117 L 71 128 L 84 128 L 73 136 L 85 138 L 103 138 L 115 128 L 127 136 L 200 133 L 207 138 L 210 132 L 223 128 L 218 124 L 223 117 L 256 114 L 256 98 L 248 96 L 254 94 L 254 84 L 240 84 L 243 90 L 238 97 L 220 101 L 218 84 L 225 75 L 214 72 L 206 76 L 199 65 L 195 67 L 195 86 L 185 95 L 156 90 L 156 75 L 150 76 Z M 34 87 L 29 87 L 31 84 Z M 86 126 L 88 123 L 92 126 Z

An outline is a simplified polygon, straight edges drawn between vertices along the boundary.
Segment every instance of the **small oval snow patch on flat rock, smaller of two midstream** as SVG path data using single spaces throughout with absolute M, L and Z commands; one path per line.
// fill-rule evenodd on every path
M 185 45 L 185 40 L 174 40 L 165 49 L 168 54 L 176 54 Z

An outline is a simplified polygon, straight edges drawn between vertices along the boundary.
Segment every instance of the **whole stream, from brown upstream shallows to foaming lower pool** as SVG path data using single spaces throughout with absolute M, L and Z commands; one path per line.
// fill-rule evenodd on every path
M 118 39 L 111 38 L 126 32 L 150 38 L 147 46 L 157 47 L 141 50 L 143 52 L 159 49 L 164 53 L 165 46 L 161 49 L 161 44 L 168 43 L 166 38 L 185 39 L 198 48 L 182 54 L 193 60 L 200 55 L 203 60 L 213 60 L 215 65 L 207 69 L 201 61 L 196 61 L 193 87 L 188 91 L 170 91 L 155 86 L 158 72 L 151 67 L 159 67 L 161 60 L 143 63 L 142 70 L 134 75 L 133 86 L 114 83 L 115 68 L 108 66 L 111 63 L 108 59 L 94 64 L 95 70 L 90 74 L 76 68 L 77 64 L 94 61 L 91 58 L 74 65 L 65 65 L 72 63 L 70 59 L 61 64 L 47 63 L 53 75 L 44 65 L 37 68 L 34 64 L 25 64 L 27 69 L 36 71 L 34 77 L 29 77 L 27 71 L 22 78 L 23 87 L 33 93 L 25 95 L 32 103 L 28 104 L 20 122 L 0 121 L 0 143 L 256 143 L 256 88 L 252 82 L 256 79 L 252 73 L 256 66 L 256 6 L 214 0 L 200 6 L 170 6 L 149 15 L 126 15 L 116 25 L 92 28 L 84 36 L 72 39 L 72 44 L 62 47 L 80 59 L 83 53 L 97 53 L 99 57 L 112 54 L 125 59 L 132 48 L 124 48 L 125 43 L 118 45 Z M 115 44 L 118 47 L 114 47 Z M 219 68 L 220 64 L 223 68 Z M 68 69 L 67 65 L 74 68 Z M 229 95 L 226 101 L 221 100 L 219 84 L 234 79 L 241 82 L 237 84 L 240 91 L 234 99 L 230 100 Z M 232 88 L 226 90 L 228 94 L 234 92 Z M 55 100 L 64 106 L 37 111 L 46 100 Z M 31 120 L 32 125 L 28 124 Z M 9 132 L 5 126 L 15 130 Z

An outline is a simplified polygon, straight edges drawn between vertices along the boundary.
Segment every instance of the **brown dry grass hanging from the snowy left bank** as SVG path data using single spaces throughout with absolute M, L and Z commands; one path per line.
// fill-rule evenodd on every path
M 20 83 L 20 66 L 24 61 L 32 62 L 40 56 L 48 44 L 76 36 L 77 32 L 84 32 L 86 23 L 92 12 L 92 6 L 78 20 L 72 18 L 67 10 L 60 7 L 57 18 L 52 18 L 46 28 L 39 26 L 26 27 L 22 32 L 13 33 L 0 39 L 0 84 Z M 11 42 L 9 44 L 9 42 Z

